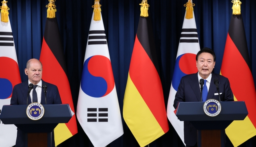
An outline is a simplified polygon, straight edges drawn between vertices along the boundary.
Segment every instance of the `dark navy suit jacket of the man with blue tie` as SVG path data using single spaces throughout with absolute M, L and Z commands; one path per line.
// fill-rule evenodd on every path
M 228 78 L 213 73 L 207 99 L 219 100 L 219 96 L 214 95 L 214 93 L 218 93 L 216 85 L 214 84 L 214 79 L 218 79 L 219 81 L 219 89 L 220 93 L 222 93 L 220 94 L 220 101 L 234 101 L 234 95 L 230 88 Z M 186 75 L 181 78 L 180 85 L 174 99 L 174 108 L 177 108 L 179 102 L 184 101 L 201 101 L 198 73 Z M 197 142 L 197 130 L 189 121 L 184 121 L 184 142 L 189 146 L 194 146 Z

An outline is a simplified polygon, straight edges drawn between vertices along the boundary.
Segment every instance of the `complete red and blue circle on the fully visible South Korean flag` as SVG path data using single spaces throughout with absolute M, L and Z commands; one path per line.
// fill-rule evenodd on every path
M 84 62 L 81 89 L 91 97 L 104 97 L 114 89 L 111 62 L 105 56 L 92 56 Z

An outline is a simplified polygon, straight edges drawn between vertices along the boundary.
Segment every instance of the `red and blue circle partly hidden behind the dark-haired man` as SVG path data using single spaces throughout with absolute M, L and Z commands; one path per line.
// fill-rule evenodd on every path
M 178 56 L 174 66 L 172 76 L 172 87 L 178 91 L 180 79 L 188 74 L 194 74 L 198 70 L 196 68 L 196 54 L 186 53 Z

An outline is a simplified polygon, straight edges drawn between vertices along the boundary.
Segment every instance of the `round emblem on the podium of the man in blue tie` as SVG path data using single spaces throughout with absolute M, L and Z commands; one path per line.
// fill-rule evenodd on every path
M 221 105 L 216 99 L 208 99 L 204 102 L 204 113 L 208 116 L 214 117 L 220 114 Z

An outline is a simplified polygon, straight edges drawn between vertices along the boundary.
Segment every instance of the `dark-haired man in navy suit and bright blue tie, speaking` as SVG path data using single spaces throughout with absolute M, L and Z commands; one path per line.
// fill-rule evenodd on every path
M 203 94 L 203 100 L 219 100 L 218 91 L 214 84 L 214 79 L 219 82 L 220 101 L 234 101 L 234 95 L 230 88 L 228 79 L 222 75 L 212 73 L 215 66 L 215 53 L 209 48 L 203 48 L 196 55 L 196 74 L 186 75 L 181 78 L 178 91 L 174 99 L 174 108 L 179 102 L 201 101 L 200 79 L 204 79 L 204 88 L 206 94 Z M 204 98 L 205 97 L 205 98 Z M 186 147 L 197 147 L 197 130 L 189 121 L 184 121 L 184 142 Z

